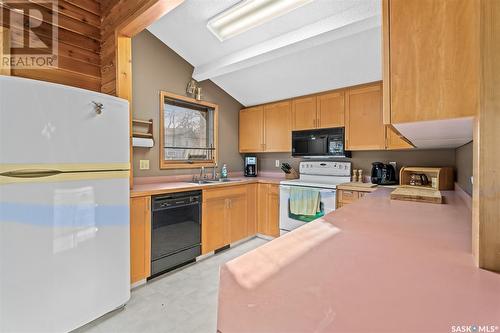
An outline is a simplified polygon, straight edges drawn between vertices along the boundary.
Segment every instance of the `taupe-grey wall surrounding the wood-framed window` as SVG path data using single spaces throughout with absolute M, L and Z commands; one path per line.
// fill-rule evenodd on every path
M 159 92 L 186 95 L 193 66 L 145 30 L 132 39 L 132 112 L 137 119 L 153 119 L 155 146 L 134 148 L 134 176 L 164 176 L 196 173 L 198 170 L 160 170 L 159 168 Z M 230 171 L 243 170 L 238 153 L 238 111 L 242 105 L 207 80 L 201 83 L 203 100 L 219 105 L 219 164 Z M 139 160 L 149 160 L 149 170 L 139 170 Z

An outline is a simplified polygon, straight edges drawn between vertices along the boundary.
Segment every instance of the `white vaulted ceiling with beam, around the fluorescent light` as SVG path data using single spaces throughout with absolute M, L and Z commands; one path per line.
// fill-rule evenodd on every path
M 207 22 L 238 0 L 186 0 L 148 28 L 245 106 L 377 81 L 380 0 L 315 0 L 223 42 Z

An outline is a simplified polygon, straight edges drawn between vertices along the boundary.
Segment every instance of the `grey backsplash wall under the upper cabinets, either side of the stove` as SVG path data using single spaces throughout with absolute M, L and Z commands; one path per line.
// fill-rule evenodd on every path
M 275 167 L 275 161 L 288 162 L 296 169 L 300 159 L 292 158 L 288 153 L 258 154 L 259 169 L 261 171 L 279 171 Z M 354 151 L 352 158 L 347 159 L 352 162 L 354 169 L 363 169 L 365 175 L 371 172 L 372 162 L 396 162 L 397 169 L 402 166 L 451 166 L 455 167 L 455 149 L 435 149 L 435 150 L 412 150 L 412 151 Z

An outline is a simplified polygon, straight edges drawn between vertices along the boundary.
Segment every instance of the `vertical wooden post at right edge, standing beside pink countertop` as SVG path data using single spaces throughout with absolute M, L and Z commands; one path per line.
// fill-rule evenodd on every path
M 476 264 L 500 272 L 500 3 L 481 0 L 479 114 L 474 129 L 472 250 Z

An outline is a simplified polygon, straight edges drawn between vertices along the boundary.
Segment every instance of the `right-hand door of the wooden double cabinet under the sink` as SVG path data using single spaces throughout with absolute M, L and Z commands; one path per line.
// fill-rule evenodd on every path
M 229 238 L 230 243 L 248 237 L 248 204 L 246 190 L 229 199 Z

